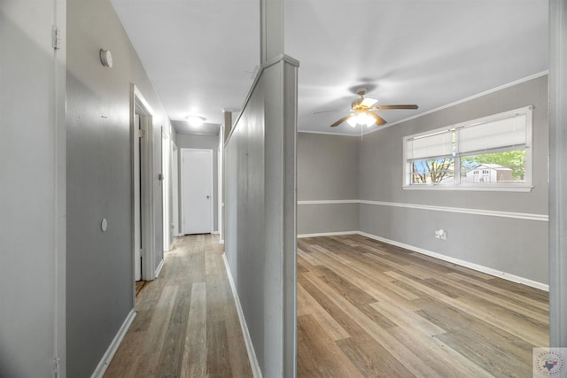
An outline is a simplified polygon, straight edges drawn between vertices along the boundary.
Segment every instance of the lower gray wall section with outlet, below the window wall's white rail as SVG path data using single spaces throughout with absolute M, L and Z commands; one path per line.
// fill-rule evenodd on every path
M 360 216 L 371 235 L 548 284 L 547 222 L 374 204 Z M 447 240 L 434 237 L 439 228 Z

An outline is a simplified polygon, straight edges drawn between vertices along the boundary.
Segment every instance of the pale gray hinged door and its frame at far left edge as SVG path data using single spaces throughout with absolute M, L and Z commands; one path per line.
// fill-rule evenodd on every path
M 65 12 L 0 4 L 1 377 L 53 377 L 53 359 L 65 363 L 65 40 L 51 47 Z

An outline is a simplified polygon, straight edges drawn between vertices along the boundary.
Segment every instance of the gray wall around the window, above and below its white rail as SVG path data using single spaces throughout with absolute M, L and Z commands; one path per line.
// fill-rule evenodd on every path
M 530 193 L 401 188 L 404 135 L 527 105 L 535 106 L 534 188 Z M 361 142 L 359 188 L 361 200 L 547 215 L 548 77 L 501 89 L 365 136 Z M 360 204 L 359 225 L 362 232 L 548 284 L 546 221 Z M 435 229 L 439 228 L 447 230 L 446 241 L 434 237 Z

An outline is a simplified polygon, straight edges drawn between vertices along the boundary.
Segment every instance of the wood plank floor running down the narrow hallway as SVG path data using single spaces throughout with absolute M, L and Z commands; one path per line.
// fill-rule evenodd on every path
M 105 377 L 252 376 L 221 256 L 216 235 L 177 240 Z

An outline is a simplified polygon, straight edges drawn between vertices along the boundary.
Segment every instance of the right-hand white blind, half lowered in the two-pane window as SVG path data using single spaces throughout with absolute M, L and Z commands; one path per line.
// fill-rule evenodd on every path
M 479 125 L 463 127 L 457 130 L 458 152 L 525 146 L 526 114 L 515 114 L 501 119 L 483 122 Z

